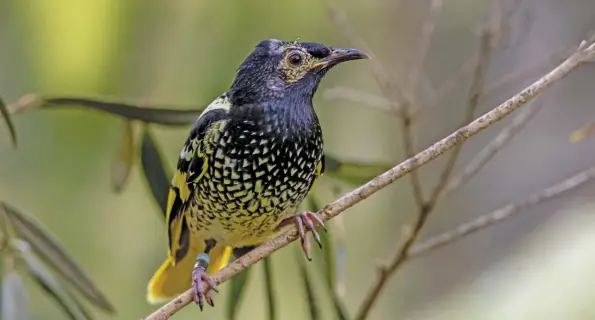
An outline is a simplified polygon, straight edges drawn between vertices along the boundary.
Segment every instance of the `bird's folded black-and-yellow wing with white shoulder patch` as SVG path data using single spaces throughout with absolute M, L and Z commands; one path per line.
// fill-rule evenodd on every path
M 169 254 L 174 263 L 180 261 L 190 245 L 190 230 L 184 215 L 192 199 L 197 182 L 208 168 L 212 142 L 227 122 L 231 103 L 225 95 L 213 101 L 194 122 L 182 147 L 180 158 L 171 181 L 167 198 L 166 223 L 168 226 Z

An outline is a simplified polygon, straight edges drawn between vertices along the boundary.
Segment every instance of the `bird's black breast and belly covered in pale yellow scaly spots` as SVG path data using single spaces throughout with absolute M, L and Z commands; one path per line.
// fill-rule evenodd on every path
M 191 230 L 231 246 L 258 244 L 294 211 L 323 166 L 320 125 L 307 108 L 232 107 L 212 125 L 186 213 Z

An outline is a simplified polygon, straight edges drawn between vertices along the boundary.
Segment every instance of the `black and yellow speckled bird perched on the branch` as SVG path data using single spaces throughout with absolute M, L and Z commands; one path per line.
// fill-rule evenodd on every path
M 149 280 L 149 303 L 192 288 L 200 310 L 205 301 L 214 306 L 211 275 L 291 225 L 308 260 L 308 232 L 322 248 L 322 219 L 297 210 L 325 170 L 312 99 L 331 68 L 358 59 L 369 56 L 317 42 L 258 42 L 181 147 L 167 199 L 168 255 Z

